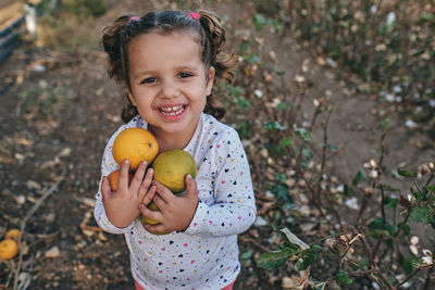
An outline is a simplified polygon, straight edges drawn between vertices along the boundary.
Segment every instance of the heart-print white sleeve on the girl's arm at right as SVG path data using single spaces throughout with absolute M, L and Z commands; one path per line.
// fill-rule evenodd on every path
M 256 203 L 248 160 L 237 133 L 226 127 L 216 140 L 208 140 L 213 199 L 201 199 L 186 234 L 232 236 L 247 230 L 256 218 Z M 208 160 L 210 159 L 210 160 Z M 208 166 L 207 166 L 208 167 Z M 199 191 L 208 190 L 198 180 Z M 212 192 L 211 192 L 212 191 Z M 208 196 L 200 192 L 200 196 Z

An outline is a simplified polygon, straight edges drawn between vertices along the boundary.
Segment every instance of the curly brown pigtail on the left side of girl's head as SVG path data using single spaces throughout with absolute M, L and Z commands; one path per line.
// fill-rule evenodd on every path
M 108 75 L 116 83 L 126 88 L 129 88 L 128 81 L 128 63 L 125 58 L 125 28 L 129 22 L 129 15 L 119 17 L 113 25 L 103 29 L 101 43 L 104 52 L 108 53 Z M 136 106 L 133 105 L 128 96 L 124 94 L 124 105 L 121 112 L 121 118 L 124 123 L 128 123 L 133 117 L 138 114 Z

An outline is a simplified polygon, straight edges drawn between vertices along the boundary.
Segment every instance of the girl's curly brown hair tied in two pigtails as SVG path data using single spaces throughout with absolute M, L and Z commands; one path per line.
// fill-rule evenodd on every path
M 223 52 L 225 30 L 217 15 L 211 11 L 200 10 L 199 21 L 182 11 L 149 12 L 141 17 L 120 16 L 111 26 L 103 29 L 102 46 L 108 53 L 108 74 L 111 78 L 130 90 L 128 75 L 128 45 L 140 35 L 148 33 L 170 34 L 174 30 L 189 30 L 198 36 L 202 62 L 206 68 L 215 70 L 215 78 L 232 84 L 232 72 L 236 61 L 233 54 Z M 127 123 L 138 114 L 124 94 L 126 105 L 122 110 L 122 119 Z M 215 104 L 212 93 L 207 97 L 204 112 L 222 118 L 225 109 Z

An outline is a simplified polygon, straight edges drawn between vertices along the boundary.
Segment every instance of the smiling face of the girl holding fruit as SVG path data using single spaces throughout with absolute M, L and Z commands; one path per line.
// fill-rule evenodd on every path
M 128 55 L 128 98 L 149 129 L 158 140 L 188 142 L 214 79 L 213 67 L 206 72 L 196 38 L 187 31 L 149 33 L 132 40 Z

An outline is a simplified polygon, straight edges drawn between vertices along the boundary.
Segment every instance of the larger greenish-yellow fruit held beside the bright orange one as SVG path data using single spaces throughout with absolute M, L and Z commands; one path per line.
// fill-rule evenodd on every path
M 186 190 L 185 176 L 197 177 L 197 163 L 184 150 L 174 149 L 160 153 L 152 163 L 154 179 L 167 187 L 173 193 Z

